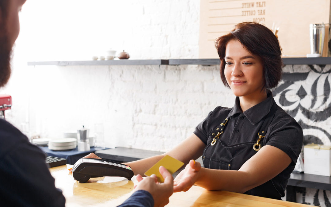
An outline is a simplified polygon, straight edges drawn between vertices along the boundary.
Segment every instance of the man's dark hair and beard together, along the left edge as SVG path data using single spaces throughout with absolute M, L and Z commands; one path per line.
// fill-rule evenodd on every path
M 0 87 L 10 78 L 11 45 L 7 33 L 7 16 L 10 0 L 0 0 Z

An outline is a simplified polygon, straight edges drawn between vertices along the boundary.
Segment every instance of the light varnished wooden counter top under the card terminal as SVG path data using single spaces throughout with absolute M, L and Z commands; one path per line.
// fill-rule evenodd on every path
M 67 170 L 72 165 L 50 168 L 56 187 L 63 190 L 66 206 L 117 206 L 131 194 L 137 183 L 121 177 L 91 178 L 86 183 L 75 181 Z M 173 193 L 166 206 L 308 206 L 288 201 L 263 198 L 227 191 L 208 191 L 192 186 L 187 192 Z

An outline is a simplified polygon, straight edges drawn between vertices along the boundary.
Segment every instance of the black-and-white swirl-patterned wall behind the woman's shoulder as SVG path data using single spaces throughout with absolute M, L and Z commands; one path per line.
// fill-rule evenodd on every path
M 304 145 L 331 145 L 331 65 L 287 65 L 273 90 L 276 103 L 301 125 Z M 297 202 L 331 207 L 331 192 L 297 188 Z

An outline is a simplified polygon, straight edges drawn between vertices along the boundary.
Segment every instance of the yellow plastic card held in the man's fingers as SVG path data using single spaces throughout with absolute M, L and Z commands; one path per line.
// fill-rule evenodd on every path
M 173 157 L 170 157 L 169 155 L 166 155 L 164 158 L 162 158 L 159 162 L 157 162 L 155 165 L 153 165 L 148 171 L 145 172 L 146 176 L 151 176 L 152 174 L 155 174 L 158 177 L 159 182 L 164 182 L 164 179 L 162 175 L 159 172 L 160 166 L 165 167 L 170 174 L 172 175 L 174 172 L 176 172 L 180 167 L 184 165 L 183 162 L 176 160 Z

